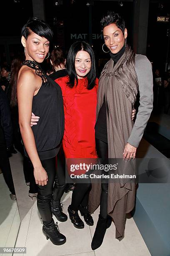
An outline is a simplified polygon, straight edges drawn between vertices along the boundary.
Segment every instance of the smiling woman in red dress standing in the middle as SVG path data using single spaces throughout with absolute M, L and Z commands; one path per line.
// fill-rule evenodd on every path
M 80 41 L 72 44 L 67 57 L 67 73 L 66 77 L 55 80 L 61 87 L 64 103 L 65 131 L 62 146 L 65 158 L 96 159 L 95 118 L 98 79 L 94 52 L 89 44 Z M 88 179 L 87 183 L 77 181 L 72 192 L 68 213 L 76 228 L 84 228 L 78 210 L 87 225 L 93 225 L 87 205 L 90 189 L 91 182 Z

